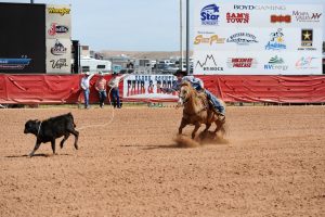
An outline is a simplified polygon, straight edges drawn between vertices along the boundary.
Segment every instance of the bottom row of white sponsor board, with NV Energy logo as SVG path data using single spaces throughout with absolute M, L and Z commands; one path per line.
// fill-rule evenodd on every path
M 195 75 L 312 75 L 322 71 L 314 52 L 218 52 L 196 51 Z

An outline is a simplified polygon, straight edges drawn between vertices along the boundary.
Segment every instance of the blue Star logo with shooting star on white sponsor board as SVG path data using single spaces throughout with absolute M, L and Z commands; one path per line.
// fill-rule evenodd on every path
M 202 25 L 216 26 L 219 23 L 219 7 L 209 4 L 200 11 Z

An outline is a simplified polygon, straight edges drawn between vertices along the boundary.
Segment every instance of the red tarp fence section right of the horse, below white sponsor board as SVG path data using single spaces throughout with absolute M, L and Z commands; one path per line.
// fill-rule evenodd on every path
M 199 76 L 225 102 L 325 102 L 325 76 Z

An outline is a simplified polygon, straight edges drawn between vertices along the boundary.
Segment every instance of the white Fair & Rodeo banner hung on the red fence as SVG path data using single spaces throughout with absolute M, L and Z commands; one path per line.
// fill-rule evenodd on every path
M 173 75 L 130 75 L 123 79 L 123 99 L 177 100 L 178 93 L 162 93 L 160 88 L 171 88 Z

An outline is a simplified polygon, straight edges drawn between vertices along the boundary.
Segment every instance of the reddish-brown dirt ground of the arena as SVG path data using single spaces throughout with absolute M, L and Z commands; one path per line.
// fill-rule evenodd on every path
M 67 112 L 90 126 L 80 149 L 28 158 L 25 122 Z M 174 142 L 181 110 L 112 114 L 0 110 L 0 216 L 325 216 L 325 106 L 231 106 L 229 143 L 194 149 Z

